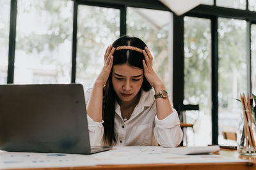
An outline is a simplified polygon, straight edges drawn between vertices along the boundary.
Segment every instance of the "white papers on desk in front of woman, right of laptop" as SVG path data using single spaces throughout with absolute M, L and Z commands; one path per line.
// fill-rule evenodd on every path
M 187 163 L 218 163 L 218 162 L 248 162 L 248 160 L 234 159 L 221 155 L 177 155 L 168 152 L 170 148 L 161 146 L 122 146 L 113 147 L 115 150 L 96 153 L 97 164 L 187 164 Z

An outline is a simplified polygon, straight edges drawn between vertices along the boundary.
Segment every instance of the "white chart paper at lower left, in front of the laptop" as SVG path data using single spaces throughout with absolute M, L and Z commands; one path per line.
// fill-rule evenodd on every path
M 0 152 L 0 169 L 77 166 L 95 166 L 95 162 L 79 154 Z

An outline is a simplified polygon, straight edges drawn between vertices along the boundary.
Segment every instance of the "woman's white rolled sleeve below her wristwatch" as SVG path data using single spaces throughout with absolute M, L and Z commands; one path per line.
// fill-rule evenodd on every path
M 157 142 L 164 147 L 179 146 L 183 138 L 183 132 L 180 128 L 178 113 L 173 109 L 173 113 L 163 120 L 155 117 L 154 135 Z

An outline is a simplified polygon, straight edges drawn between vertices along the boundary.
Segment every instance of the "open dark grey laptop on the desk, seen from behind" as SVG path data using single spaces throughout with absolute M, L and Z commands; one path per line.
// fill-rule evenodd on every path
M 90 154 L 83 85 L 0 85 L 0 150 Z

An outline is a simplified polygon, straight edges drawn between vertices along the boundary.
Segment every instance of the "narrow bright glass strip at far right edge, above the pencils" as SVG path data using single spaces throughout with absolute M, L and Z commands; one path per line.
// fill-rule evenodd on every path
M 252 36 L 252 93 L 256 95 L 256 25 L 252 25 L 251 27 L 251 36 Z

